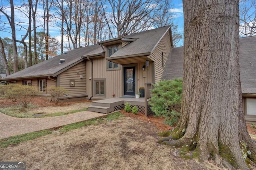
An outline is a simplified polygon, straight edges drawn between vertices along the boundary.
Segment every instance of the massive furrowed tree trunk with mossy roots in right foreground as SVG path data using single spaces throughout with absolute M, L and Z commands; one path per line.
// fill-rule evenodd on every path
M 250 150 L 246 159 L 255 162 L 256 146 L 242 109 L 238 1 L 183 1 L 182 108 L 172 134 L 178 140 L 169 145 L 189 145 L 199 160 L 220 162 L 221 156 L 234 168 L 248 169 L 241 150 Z

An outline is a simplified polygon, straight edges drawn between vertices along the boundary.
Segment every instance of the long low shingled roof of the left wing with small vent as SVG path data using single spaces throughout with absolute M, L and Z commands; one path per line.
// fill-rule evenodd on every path
M 52 59 L 46 60 L 42 63 L 38 63 L 24 70 L 11 74 L 2 78 L 1 80 L 14 80 L 21 78 L 32 78 L 38 76 L 55 76 L 56 73 L 61 73 L 65 68 L 71 66 L 72 64 L 79 63 L 83 61 L 83 55 L 87 53 L 92 54 L 92 51 L 103 51 L 100 45 L 91 45 L 88 47 L 82 47 L 68 51 L 66 54 L 61 54 Z M 65 62 L 60 64 L 60 59 L 65 59 Z

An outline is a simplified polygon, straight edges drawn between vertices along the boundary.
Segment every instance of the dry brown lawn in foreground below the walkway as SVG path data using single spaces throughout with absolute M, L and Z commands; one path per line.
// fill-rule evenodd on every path
M 26 161 L 28 170 L 220 170 L 174 156 L 174 149 L 156 143 L 153 123 L 133 117 L 54 133 L 0 148 L 0 161 Z

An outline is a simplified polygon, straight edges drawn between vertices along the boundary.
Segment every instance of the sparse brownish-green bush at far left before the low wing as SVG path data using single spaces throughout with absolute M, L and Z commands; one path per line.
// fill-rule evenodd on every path
M 1 87 L 1 89 L 4 98 L 10 99 L 12 102 L 19 100 L 22 103 L 22 107 L 27 107 L 37 93 L 36 87 L 22 84 L 8 84 Z

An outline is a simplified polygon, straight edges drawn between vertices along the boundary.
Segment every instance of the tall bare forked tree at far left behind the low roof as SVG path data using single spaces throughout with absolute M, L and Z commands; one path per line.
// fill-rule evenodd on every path
M 17 44 L 16 44 L 16 30 L 15 30 L 15 20 L 14 20 L 14 4 L 13 0 L 10 0 L 10 8 L 11 8 L 11 15 L 9 16 L 3 7 L 0 8 L 0 12 L 6 16 L 10 27 L 11 27 L 11 33 L 12 33 L 12 43 L 13 43 L 13 55 L 14 55 L 14 61 L 13 61 L 13 71 L 18 71 L 18 53 L 17 53 Z

